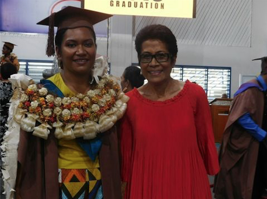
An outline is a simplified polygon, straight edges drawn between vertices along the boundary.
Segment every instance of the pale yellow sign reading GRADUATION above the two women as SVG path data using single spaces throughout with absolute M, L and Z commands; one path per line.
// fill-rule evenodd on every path
M 195 18 L 196 0 L 84 0 L 85 9 L 107 14 Z

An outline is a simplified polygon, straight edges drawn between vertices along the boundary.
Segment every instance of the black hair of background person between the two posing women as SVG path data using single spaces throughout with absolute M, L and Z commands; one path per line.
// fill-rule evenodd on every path
M 144 84 L 144 76 L 141 74 L 141 69 L 137 66 L 128 66 L 124 70 L 124 79 L 129 80 L 131 86 L 139 88 Z

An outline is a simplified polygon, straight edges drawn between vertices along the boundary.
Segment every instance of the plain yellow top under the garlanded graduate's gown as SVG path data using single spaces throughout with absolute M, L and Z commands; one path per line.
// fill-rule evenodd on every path
M 76 93 L 70 90 L 64 83 L 61 74 L 57 73 L 51 78 L 58 89 L 65 96 L 73 96 Z M 79 146 L 75 139 L 73 140 L 58 140 L 58 168 L 59 169 L 91 169 L 99 167 L 99 159 L 96 157 L 93 162 L 85 151 Z

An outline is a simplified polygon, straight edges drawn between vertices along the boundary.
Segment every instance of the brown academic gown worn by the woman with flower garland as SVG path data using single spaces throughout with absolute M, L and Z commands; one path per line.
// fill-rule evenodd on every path
M 121 198 L 116 127 L 102 134 L 99 152 L 104 199 Z M 47 140 L 20 131 L 18 148 L 17 199 L 58 199 L 57 139 Z

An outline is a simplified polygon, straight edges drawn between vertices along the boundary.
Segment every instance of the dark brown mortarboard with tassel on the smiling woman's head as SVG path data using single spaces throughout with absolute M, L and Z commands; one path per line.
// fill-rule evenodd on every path
M 49 25 L 46 55 L 52 56 L 55 54 L 54 27 L 57 27 L 57 31 L 79 27 L 89 27 L 93 29 L 94 24 L 101 22 L 111 16 L 112 15 L 110 14 L 95 12 L 72 6 L 68 6 L 56 13 L 52 13 L 49 17 L 46 17 L 45 19 L 37 23 L 40 25 Z

